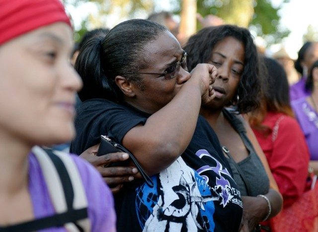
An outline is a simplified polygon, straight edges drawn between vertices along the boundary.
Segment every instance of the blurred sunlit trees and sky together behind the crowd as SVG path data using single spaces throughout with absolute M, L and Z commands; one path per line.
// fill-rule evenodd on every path
M 131 18 L 170 11 L 180 21 L 185 0 L 64 0 L 75 27 L 75 39 L 97 27 L 112 28 Z M 189 5 L 188 7 L 191 7 Z M 197 12 L 250 29 L 267 55 L 285 47 L 291 58 L 306 41 L 318 41 L 318 0 L 197 0 Z M 198 28 L 200 25 L 198 25 Z

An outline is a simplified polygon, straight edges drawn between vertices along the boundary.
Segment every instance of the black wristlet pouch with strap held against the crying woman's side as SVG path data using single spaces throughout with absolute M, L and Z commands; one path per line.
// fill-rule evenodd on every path
M 135 164 L 135 166 L 138 169 L 138 171 L 140 172 L 140 174 L 146 180 L 146 183 L 151 187 L 154 186 L 153 180 L 149 177 L 148 174 L 146 174 L 146 172 L 140 166 L 138 160 L 135 158 L 135 156 L 130 151 L 128 151 L 122 145 L 112 141 L 107 136 L 101 135 L 100 136 L 100 145 L 99 145 L 99 148 L 97 151 L 97 156 L 102 156 L 102 155 L 106 155 L 108 153 L 115 153 L 115 152 L 127 153 L 129 155 L 129 159 L 131 159 L 133 161 L 133 163 Z M 123 165 L 125 166 L 126 164 L 128 164 L 128 162 L 129 162 L 129 160 L 123 161 L 123 162 L 113 162 L 109 165 L 106 165 L 105 167 L 112 167 L 112 166 L 116 167 L 116 166 L 123 166 Z

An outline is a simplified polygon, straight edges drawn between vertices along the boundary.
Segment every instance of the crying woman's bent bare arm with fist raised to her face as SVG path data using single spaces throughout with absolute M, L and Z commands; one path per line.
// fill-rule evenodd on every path
M 150 116 L 145 125 L 135 126 L 126 133 L 122 143 L 136 156 L 146 173 L 164 170 L 187 148 L 201 100 L 207 101 L 213 94 L 210 85 L 216 75 L 213 65 L 198 64 L 191 78 L 166 106 Z

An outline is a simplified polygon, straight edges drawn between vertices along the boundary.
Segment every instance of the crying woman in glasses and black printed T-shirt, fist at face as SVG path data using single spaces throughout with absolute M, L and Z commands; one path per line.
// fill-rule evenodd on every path
M 118 231 L 238 231 L 239 191 L 218 138 L 199 116 L 201 102 L 214 97 L 216 68 L 198 64 L 190 75 L 175 37 L 149 20 L 120 23 L 84 47 L 76 68 L 85 101 L 72 151 L 108 135 L 153 175 L 154 187 L 134 180 L 115 195 Z

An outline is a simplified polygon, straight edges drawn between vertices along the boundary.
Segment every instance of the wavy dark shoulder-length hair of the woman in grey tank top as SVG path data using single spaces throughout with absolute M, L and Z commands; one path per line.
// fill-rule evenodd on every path
M 250 32 L 234 25 L 206 27 L 191 36 L 184 46 L 188 54 L 188 70 L 191 71 L 198 63 L 206 63 L 211 59 L 216 44 L 226 37 L 234 37 L 245 47 L 244 70 L 233 102 L 237 104 L 239 113 L 247 113 L 259 106 L 261 78 L 259 77 L 259 61 L 256 47 Z

